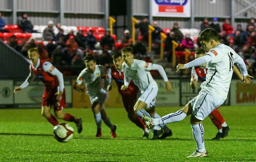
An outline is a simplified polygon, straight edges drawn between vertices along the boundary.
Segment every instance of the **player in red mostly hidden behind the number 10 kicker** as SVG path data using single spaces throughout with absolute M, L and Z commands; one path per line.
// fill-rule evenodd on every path
M 195 52 L 195 58 L 200 58 L 204 55 L 206 55 L 206 53 L 205 53 L 205 50 L 203 48 L 199 48 Z M 192 88 L 196 88 L 197 80 L 200 80 L 201 82 L 204 82 L 206 80 L 207 69 L 208 69 L 208 63 L 205 63 L 201 66 L 192 67 L 191 82 L 190 82 L 190 86 Z M 242 80 L 242 75 L 239 72 L 239 70 L 236 68 L 236 66 L 234 66 L 234 72 L 236 73 L 238 78 L 240 80 Z M 227 126 L 227 124 L 225 122 L 225 119 L 221 115 L 221 112 L 219 112 L 218 109 L 215 109 L 211 112 L 209 117 L 211 118 L 212 123 L 214 123 L 214 125 L 219 130 L 216 137 L 214 137 L 212 139 L 218 140 L 220 138 L 226 137 L 229 134 L 229 126 Z

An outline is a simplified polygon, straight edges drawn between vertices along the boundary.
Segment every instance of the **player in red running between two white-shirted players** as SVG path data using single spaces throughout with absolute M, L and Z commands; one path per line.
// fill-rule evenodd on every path
M 127 90 L 121 90 L 121 86 L 124 85 L 124 71 L 122 69 L 124 59 L 122 55 L 118 53 L 114 54 L 112 58 L 114 64 L 111 67 L 111 76 L 115 80 L 118 87 L 118 92 L 122 96 L 125 110 L 128 113 L 128 118 L 144 131 L 142 138 L 147 139 L 149 130 L 146 128 L 143 120 L 133 110 L 133 106 L 137 101 L 139 88 L 131 80 Z

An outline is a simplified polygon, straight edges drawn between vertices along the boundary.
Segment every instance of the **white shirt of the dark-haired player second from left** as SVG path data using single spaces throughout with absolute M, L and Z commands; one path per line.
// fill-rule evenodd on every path
M 106 74 L 104 69 L 104 66 L 96 65 L 95 72 L 90 73 L 87 71 L 87 68 L 84 68 L 76 79 L 76 83 L 80 85 L 82 82 L 84 82 L 85 86 L 88 87 L 90 96 L 92 97 L 97 96 L 99 92 L 106 93 L 106 90 L 103 89 L 104 80 L 102 78 L 102 74 Z

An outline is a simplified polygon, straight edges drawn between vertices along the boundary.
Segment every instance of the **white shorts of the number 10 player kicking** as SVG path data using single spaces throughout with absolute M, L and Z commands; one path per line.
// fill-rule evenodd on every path
M 201 90 L 199 94 L 188 103 L 191 103 L 192 114 L 199 120 L 204 120 L 215 108 L 221 106 L 225 99 L 212 96 Z

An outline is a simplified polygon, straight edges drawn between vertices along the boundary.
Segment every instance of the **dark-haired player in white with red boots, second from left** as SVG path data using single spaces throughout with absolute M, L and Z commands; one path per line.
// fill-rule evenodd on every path
M 111 138 L 116 138 L 116 126 L 110 122 L 106 115 L 104 103 L 109 98 L 109 92 L 106 90 L 111 80 L 105 71 L 105 67 L 96 65 L 95 58 L 92 55 L 87 55 L 84 58 L 86 68 L 80 72 L 74 89 L 79 92 L 86 92 L 90 95 L 92 110 L 94 113 L 95 122 L 97 124 L 96 137 L 102 137 L 101 119 L 111 129 Z

